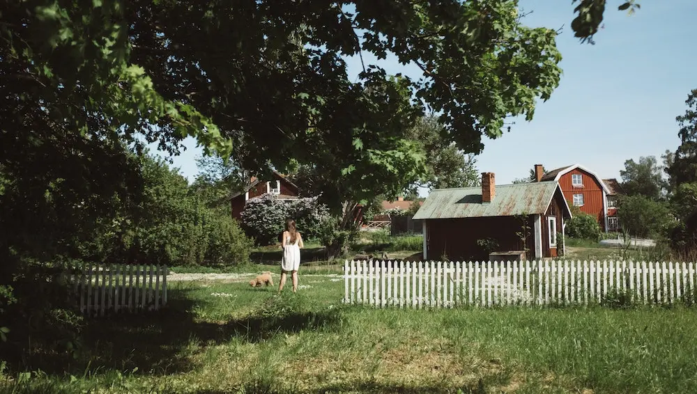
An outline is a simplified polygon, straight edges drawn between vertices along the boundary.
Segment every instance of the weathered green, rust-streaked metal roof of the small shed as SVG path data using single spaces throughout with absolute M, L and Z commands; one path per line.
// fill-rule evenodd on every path
M 431 191 L 413 219 L 544 214 L 558 188 L 556 181 L 497 184 L 491 203 L 482 203 L 482 187 L 436 189 Z

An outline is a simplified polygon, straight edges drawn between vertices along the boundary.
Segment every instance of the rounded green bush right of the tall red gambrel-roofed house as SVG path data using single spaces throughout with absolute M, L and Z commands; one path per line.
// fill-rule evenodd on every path
M 622 227 L 635 237 L 664 235 L 673 226 L 673 215 L 666 203 L 646 196 L 622 196 L 617 216 Z

